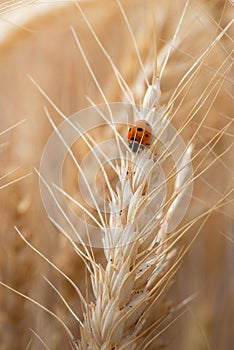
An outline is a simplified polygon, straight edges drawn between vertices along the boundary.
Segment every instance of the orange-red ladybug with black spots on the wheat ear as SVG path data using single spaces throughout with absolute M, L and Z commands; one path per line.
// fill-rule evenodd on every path
M 133 152 L 139 149 L 143 150 L 144 146 L 150 144 L 152 128 L 146 120 L 137 120 L 135 124 L 130 125 L 128 129 L 129 147 Z

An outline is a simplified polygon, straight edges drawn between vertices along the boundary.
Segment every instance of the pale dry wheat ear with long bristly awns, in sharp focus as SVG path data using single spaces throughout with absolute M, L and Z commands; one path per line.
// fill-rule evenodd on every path
M 128 25 L 125 11 L 121 3 L 119 1 L 117 3 L 124 21 Z M 213 164 L 222 161 L 222 157 L 228 154 L 232 147 L 231 144 L 220 155 L 216 156 L 212 162 L 206 165 L 207 156 L 215 152 L 218 142 L 223 136 L 228 134 L 229 127 L 232 124 L 230 120 L 215 133 L 213 138 L 210 138 L 204 147 L 201 147 L 197 152 L 193 151 L 196 147 L 196 137 L 199 136 L 199 131 L 227 80 L 231 69 L 231 64 L 229 63 L 231 54 L 227 53 L 226 59 L 215 72 L 212 72 L 211 80 L 204 87 L 197 101 L 191 104 L 192 107 L 189 113 L 186 114 L 185 121 L 179 125 L 177 130 L 180 135 L 187 125 L 190 125 L 195 119 L 199 110 L 206 106 L 206 103 L 208 104 L 202 120 L 198 124 L 198 128 L 194 131 L 184 151 L 176 158 L 172 168 L 170 157 L 171 150 L 173 148 L 176 149 L 176 146 L 178 146 L 175 142 L 176 135 L 165 141 L 163 146 L 159 139 L 162 140 L 162 135 L 167 134 L 168 126 L 176 119 L 178 111 L 182 113 L 184 105 L 186 105 L 186 97 L 189 96 L 190 89 L 196 84 L 200 71 L 204 67 L 208 70 L 210 69 L 206 59 L 217 45 L 222 45 L 221 40 L 227 35 L 232 22 L 229 22 L 224 29 L 216 33 L 209 46 L 204 49 L 198 58 L 192 57 L 193 64 L 178 82 L 174 93 L 171 94 L 171 98 L 165 105 L 160 105 L 160 83 L 164 74 L 166 75 L 166 68 L 171 55 L 175 51 L 180 50 L 180 44 L 183 41 L 180 29 L 187 15 L 189 1 L 186 2 L 182 9 L 174 37 L 168 45 L 165 45 L 164 50 L 157 52 L 157 64 L 152 63 L 152 59 L 149 59 L 149 62 L 142 61 L 131 27 L 128 27 L 141 68 L 141 73 L 136 77 L 136 83 L 130 87 L 112 61 L 108 51 L 99 41 L 95 30 L 77 2 L 76 5 L 81 11 L 100 50 L 111 64 L 116 81 L 120 86 L 122 100 L 128 101 L 126 106 L 129 107 L 130 105 L 132 108 L 133 121 L 146 119 L 152 125 L 155 139 L 148 149 L 132 152 L 129 148 L 126 141 L 126 130 L 130 120 L 128 120 L 127 116 L 124 128 L 116 126 L 117 116 L 114 114 L 111 103 L 108 101 L 91 68 L 77 31 L 72 27 L 75 42 L 80 49 L 90 75 L 95 81 L 96 88 L 106 104 L 105 112 L 91 99 L 89 101 L 93 110 L 102 118 L 103 123 L 109 126 L 109 131 L 106 132 L 105 137 L 114 135 L 113 140 L 116 147 L 114 153 L 117 151 L 118 162 L 109 161 L 109 167 L 114 172 L 113 178 L 113 175 L 110 175 L 109 171 L 102 165 L 103 157 L 105 162 L 108 162 L 111 152 L 109 150 L 106 152 L 105 149 L 102 153 L 99 150 L 96 151 L 98 142 L 95 140 L 95 137 L 89 133 L 84 133 L 81 126 L 71 123 L 69 118 L 60 111 L 39 84 L 32 79 L 51 106 L 55 108 L 73 131 L 81 136 L 83 143 L 92 152 L 96 162 L 100 165 L 101 180 L 98 186 L 100 191 L 104 188 L 105 206 L 104 208 L 101 207 L 100 198 L 96 198 L 93 194 L 95 192 L 93 192 L 94 190 L 90 185 L 89 179 L 86 179 L 86 173 L 76 160 L 76 156 L 67 144 L 63 134 L 60 133 L 59 128 L 53 122 L 48 109 L 45 108 L 48 120 L 71 156 L 81 177 L 83 177 L 87 192 L 94 202 L 94 210 L 90 210 L 82 201 L 73 198 L 68 191 L 57 184 L 49 183 L 44 178 L 44 174 L 39 173 L 43 185 L 54 201 L 54 206 L 59 210 L 59 215 L 64 218 L 67 226 L 63 227 L 60 221 L 56 221 L 53 217 L 51 217 L 51 221 L 74 247 L 84 263 L 87 275 L 90 277 L 91 284 L 87 283 L 85 295 L 81 293 L 71 278 L 57 268 L 49 258 L 27 242 L 18 228 L 16 230 L 36 253 L 67 279 L 79 295 L 83 309 L 83 319 L 78 317 L 76 311 L 72 309 L 69 299 L 65 299 L 59 290 L 47 279 L 47 282 L 58 294 L 75 322 L 77 322 L 77 327 L 80 328 L 79 340 L 76 340 L 76 337 L 65 322 L 50 309 L 28 297 L 27 299 L 59 320 L 65 328 L 70 338 L 71 346 L 74 349 L 149 349 L 150 346 L 153 346 L 155 349 L 161 334 L 177 320 L 177 317 L 183 314 L 184 311 L 181 311 L 181 309 L 183 310 L 183 307 L 190 301 L 190 298 L 188 298 L 177 306 L 172 306 L 165 301 L 166 291 L 180 267 L 184 255 L 204 227 L 211 213 L 222 210 L 225 205 L 230 203 L 229 197 L 232 189 L 227 190 L 215 204 L 202 211 L 195 218 L 183 223 L 179 228 L 176 227 L 172 232 L 169 230 L 171 222 L 180 215 L 189 186 L 194 180 L 201 178 Z M 127 110 L 128 112 L 129 109 Z M 203 156 L 203 151 L 205 151 L 205 156 Z M 197 162 L 194 166 L 193 177 L 190 169 L 191 161 Z M 205 165 L 202 167 L 204 163 Z M 158 181 L 160 167 L 168 171 L 163 182 Z M 92 168 L 90 168 L 90 172 L 92 172 Z M 161 198 L 163 186 L 169 188 L 169 195 L 164 201 L 160 201 L 159 198 Z M 77 207 L 82 212 L 84 233 L 80 233 L 76 229 L 74 222 L 69 219 L 66 211 L 59 206 L 58 194 L 62 194 L 74 207 Z M 90 221 L 96 225 L 92 232 L 89 231 Z M 199 224 L 199 227 L 196 228 L 193 239 L 183 246 L 181 241 L 196 224 Z M 74 237 L 70 236 L 70 231 L 66 227 L 69 230 L 73 230 L 79 244 L 75 243 Z M 102 262 L 98 261 L 95 250 L 92 248 L 92 234 L 95 234 L 95 232 L 98 232 L 101 237 L 99 242 L 101 242 L 101 251 L 104 255 Z M 6 284 L 2 282 L 1 284 L 13 290 Z M 23 296 L 22 293 L 17 293 Z M 46 344 L 38 334 L 37 337 L 46 347 Z

